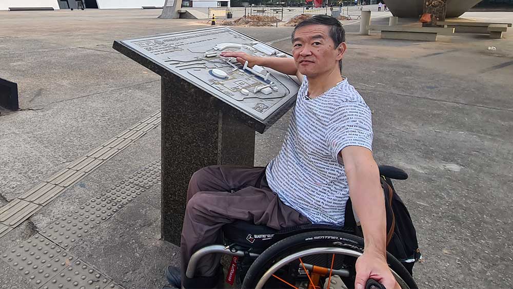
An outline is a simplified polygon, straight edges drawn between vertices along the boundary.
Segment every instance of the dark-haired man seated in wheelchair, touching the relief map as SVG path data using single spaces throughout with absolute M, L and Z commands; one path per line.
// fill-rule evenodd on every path
M 386 216 L 379 170 L 372 157 L 370 109 L 341 75 L 345 31 L 336 18 L 317 15 L 292 32 L 293 59 L 223 52 L 248 66 L 260 65 L 302 82 L 288 132 L 266 168 L 210 166 L 189 183 L 181 243 L 181 271 L 168 281 L 185 288 L 212 288 L 219 256 L 206 256 L 185 277 L 190 256 L 219 243 L 223 224 L 251 221 L 280 229 L 307 223 L 344 223 L 349 196 L 362 225 L 365 251 L 357 260 L 356 288 L 368 278 L 398 287 L 386 262 Z M 182 283 L 183 281 L 183 283 Z

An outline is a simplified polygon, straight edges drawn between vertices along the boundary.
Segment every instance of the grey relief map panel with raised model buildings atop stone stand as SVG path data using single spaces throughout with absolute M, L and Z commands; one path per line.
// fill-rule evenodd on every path
M 224 51 L 267 57 L 290 55 L 230 28 L 195 30 L 126 40 L 123 43 L 150 57 L 181 78 L 260 120 L 298 92 L 288 75 L 255 65 L 248 67 Z

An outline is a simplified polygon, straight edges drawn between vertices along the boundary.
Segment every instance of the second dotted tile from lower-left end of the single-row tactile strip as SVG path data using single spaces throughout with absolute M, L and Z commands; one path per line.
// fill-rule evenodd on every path
M 108 198 L 98 197 L 91 199 L 89 202 L 78 207 L 78 209 L 74 209 L 72 213 L 92 224 L 98 225 L 112 217 L 124 206 Z

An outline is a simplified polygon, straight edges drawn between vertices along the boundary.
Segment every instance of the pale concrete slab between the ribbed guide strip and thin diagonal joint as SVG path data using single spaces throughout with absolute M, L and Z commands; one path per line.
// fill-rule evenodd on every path
M 7 200 L 21 196 L 159 108 L 156 81 L 2 116 L 2 195 Z

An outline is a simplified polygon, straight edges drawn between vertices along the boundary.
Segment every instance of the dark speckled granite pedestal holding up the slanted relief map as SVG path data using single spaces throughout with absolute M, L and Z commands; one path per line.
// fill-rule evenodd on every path
M 162 238 L 180 245 L 187 187 L 209 165 L 253 166 L 255 131 L 178 76 L 162 78 Z

